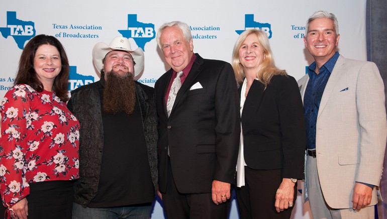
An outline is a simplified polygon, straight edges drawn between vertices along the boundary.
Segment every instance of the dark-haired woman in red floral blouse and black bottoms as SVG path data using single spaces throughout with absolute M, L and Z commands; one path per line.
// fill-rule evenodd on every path
M 0 105 L 0 189 L 12 218 L 71 218 L 79 122 L 67 110 L 69 64 L 52 36 L 32 38 Z

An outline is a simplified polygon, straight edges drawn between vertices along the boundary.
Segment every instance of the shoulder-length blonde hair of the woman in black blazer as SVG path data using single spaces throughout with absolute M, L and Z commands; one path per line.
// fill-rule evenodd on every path
M 235 43 L 231 64 L 234 69 L 236 80 L 238 81 L 238 83 L 242 83 L 246 74 L 244 72 L 243 65 L 239 61 L 239 49 L 242 47 L 242 44 L 245 39 L 251 34 L 255 34 L 258 37 L 258 43 L 262 46 L 262 50 L 266 56 L 262 63 L 259 64 L 258 70 L 256 72 L 256 77 L 266 87 L 270 83 L 270 80 L 274 75 L 286 75 L 286 71 L 275 67 L 273 54 L 270 49 L 269 39 L 267 38 L 267 35 L 264 31 L 257 29 L 249 29 L 244 31 L 238 37 L 237 42 Z

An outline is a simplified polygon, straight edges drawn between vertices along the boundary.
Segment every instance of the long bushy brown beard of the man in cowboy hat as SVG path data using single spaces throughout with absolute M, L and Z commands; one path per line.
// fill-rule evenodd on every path
M 136 103 L 136 84 L 133 74 L 118 75 L 115 72 L 107 72 L 104 89 L 104 112 L 117 114 L 124 111 L 131 115 Z

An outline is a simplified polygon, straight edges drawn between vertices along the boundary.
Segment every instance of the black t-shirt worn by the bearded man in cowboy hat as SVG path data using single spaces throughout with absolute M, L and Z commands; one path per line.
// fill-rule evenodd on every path
M 104 151 L 100 182 L 98 193 L 88 207 L 152 202 L 155 194 L 138 101 L 132 115 L 106 114 L 102 110 L 102 120 Z

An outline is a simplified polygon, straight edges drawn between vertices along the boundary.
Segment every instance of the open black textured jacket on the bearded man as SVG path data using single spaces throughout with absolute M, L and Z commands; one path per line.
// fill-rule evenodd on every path
M 71 92 L 67 107 L 80 122 L 79 179 L 74 184 L 74 202 L 86 207 L 98 191 L 104 128 L 100 90 L 105 80 L 81 86 Z M 136 81 L 148 161 L 155 191 L 157 189 L 157 115 L 154 89 Z

